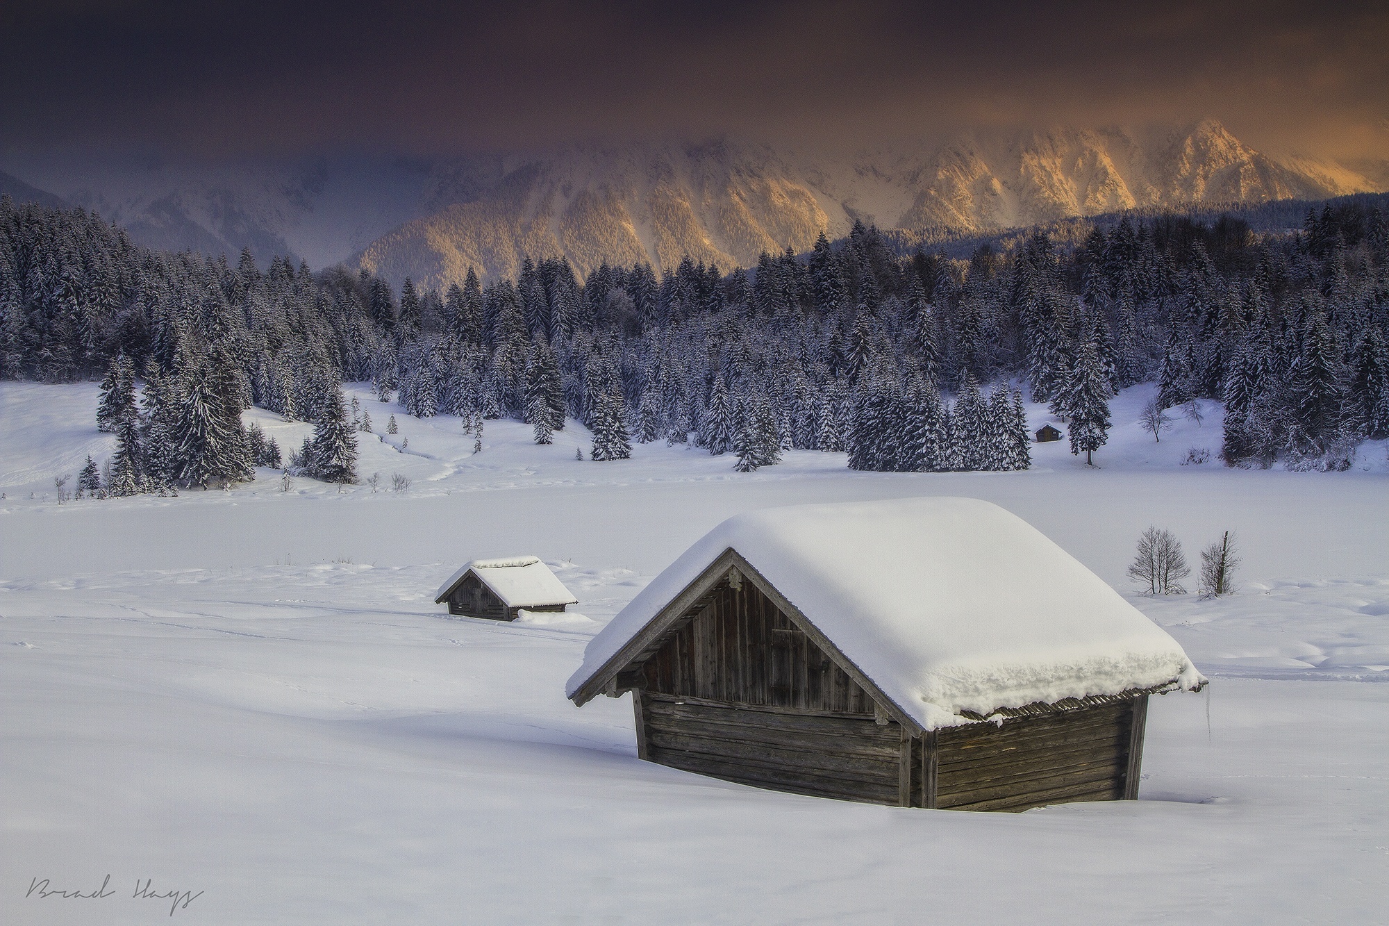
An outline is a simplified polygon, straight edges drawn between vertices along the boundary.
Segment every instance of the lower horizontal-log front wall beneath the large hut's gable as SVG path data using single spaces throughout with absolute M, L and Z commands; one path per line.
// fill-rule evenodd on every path
M 642 758 L 728 781 L 895 805 L 903 797 L 903 755 L 920 756 L 897 723 L 871 715 L 632 697 Z

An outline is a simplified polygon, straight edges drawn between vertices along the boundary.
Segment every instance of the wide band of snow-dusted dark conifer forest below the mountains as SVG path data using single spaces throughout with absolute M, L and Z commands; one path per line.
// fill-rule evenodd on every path
M 1356 197 L 1299 234 L 1143 216 L 953 260 L 897 256 L 857 224 L 749 270 L 686 259 L 660 278 L 638 263 L 578 279 L 561 259 L 442 293 L 151 252 L 99 216 L 0 199 L 0 375 L 101 380 L 117 495 L 256 466 L 354 481 L 363 421 L 343 381 L 421 417 L 524 420 L 539 444 L 576 419 L 599 462 L 667 441 L 739 470 L 797 448 L 895 471 L 1026 469 L 1024 388 L 1089 459 L 1110 396 L 1156 381 L 1156 413 L 1224 403 L 1225 464 L 1333 470 L 1389 437 L 1386 327 L 1389 224 Z M 251 405 L 314 437 L 282 455 L 242 427 Z

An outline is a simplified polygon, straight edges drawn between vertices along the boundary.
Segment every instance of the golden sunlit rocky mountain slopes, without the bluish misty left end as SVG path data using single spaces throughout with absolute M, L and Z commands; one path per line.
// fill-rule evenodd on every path
M 831 157 L 722 140 L 569 147 L 435 168 L 429 216 L 367 246 L 360 266 L 426 285 L 514 275 L 521 260 L 601 261 L 689 254 L 750 266 L 763 250 L 807 250 L 854 218 L 882 228 L 989 231 L 1121 209 L 1322 199 L 1375 189 L 1339 165 L 1276 161 L 1213 120 L 1183 129 L 1101 129 L 960 138 L 936 150 Z

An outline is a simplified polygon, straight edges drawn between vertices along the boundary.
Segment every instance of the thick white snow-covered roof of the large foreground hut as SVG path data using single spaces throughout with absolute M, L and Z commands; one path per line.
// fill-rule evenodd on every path
M 961 712 L 1204 684 L 1167 631 L 1022 519 L 920 498 L 731 517 L 589 642 L 567 694 L 624 669 L 610 663 L 729 549 L 922 730 L 965 723 Z

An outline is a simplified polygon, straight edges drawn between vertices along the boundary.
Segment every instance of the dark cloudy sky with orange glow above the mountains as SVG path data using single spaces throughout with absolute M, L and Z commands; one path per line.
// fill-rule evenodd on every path
M 1389 160 L 1385 3 L 0 4 L 0 153 L 872 146 L 1221 120 Z

